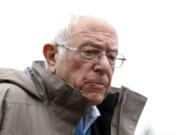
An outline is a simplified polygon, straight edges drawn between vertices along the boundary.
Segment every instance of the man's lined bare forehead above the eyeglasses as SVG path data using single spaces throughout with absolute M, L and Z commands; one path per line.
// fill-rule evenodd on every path
M 68 43 L 79 44 L 88 40 L 118 46 L 118 35 L 111 25 L 96 18 L 80 17 L 70 28 Z

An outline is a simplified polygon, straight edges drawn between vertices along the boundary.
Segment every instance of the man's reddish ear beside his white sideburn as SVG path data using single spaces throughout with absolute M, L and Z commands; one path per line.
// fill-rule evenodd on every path
M 45 44 L 43 47 L 43 54 L 46 58 L 48 69 L 50 72 L 55 72 L 57 48 L 52 44 Z

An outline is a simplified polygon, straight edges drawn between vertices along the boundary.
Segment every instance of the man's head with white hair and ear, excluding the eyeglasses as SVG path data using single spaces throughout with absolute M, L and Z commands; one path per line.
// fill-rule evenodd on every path
M 108 94 L 114 72 L 106 55 L 102 55 L 96 63 L 89 63 L 82 60 L 78 53 L 57 45 L 79 49 L 93 47 L 103 53 L 118 51 L 117 33 L 104 20 L 91 16 L 72 16 L 68 22 L 43 48 L 48 70 L 78 88 L 89 100 L 89 105 L 97 105 Z

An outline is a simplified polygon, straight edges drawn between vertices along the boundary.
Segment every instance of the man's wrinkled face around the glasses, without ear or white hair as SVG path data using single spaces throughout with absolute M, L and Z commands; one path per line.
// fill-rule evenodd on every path
M 80 19 L 71 28 L 68 44 L 72 48 L 98 48 L 103 53 L 117 51 L 118 48 L 114 29 L 105 22 L 89 18 Z M 102 55 L 96 63 L 86 62 L 78 53 L 70 50 L 66 50 L 63 58 L 59 54 L 55 58 L 57 77 L 78 88 L 89 100 L 89 105 L 103 101 L 110 90 L 114 71 L 106 55 Z

